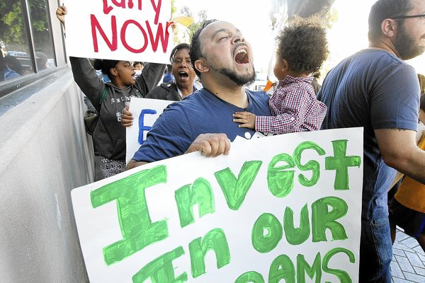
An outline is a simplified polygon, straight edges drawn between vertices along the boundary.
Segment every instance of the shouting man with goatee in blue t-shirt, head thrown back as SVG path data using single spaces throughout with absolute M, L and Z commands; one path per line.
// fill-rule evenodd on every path
M 232 23 L 203 23 L 193 34 L 190 55 L 203 88 L 164 110 L 128 168 L 193 151 L 228 154 L 230 141 L 255 133 L 237 127 L 232 113 L 270 115 L 266 93 L 244 88 L 255 78 L 251 46 Z

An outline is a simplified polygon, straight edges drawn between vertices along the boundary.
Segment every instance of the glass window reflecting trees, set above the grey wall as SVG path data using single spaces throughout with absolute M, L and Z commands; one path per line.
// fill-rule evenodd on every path
M 0 81 L 55 67 L 47 0 L 0 0 L 0 11 Z

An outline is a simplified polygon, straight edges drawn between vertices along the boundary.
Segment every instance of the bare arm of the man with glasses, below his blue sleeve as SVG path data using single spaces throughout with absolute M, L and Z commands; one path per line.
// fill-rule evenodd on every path
M 416 145 L 415 135 L 416 132 L 408 129 L 375 129 L 387 166 L 425 184 L 425 151 Z

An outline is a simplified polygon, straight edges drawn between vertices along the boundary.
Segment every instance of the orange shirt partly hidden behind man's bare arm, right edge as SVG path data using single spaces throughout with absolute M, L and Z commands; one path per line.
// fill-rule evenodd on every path
M 421 137 L 418 146 L 419 149 L 425 150 L 425 134 Z M 395 194 L 395 199 L 409 209 L 425 213 L 425 185 L 412 178 L 404 177 Z

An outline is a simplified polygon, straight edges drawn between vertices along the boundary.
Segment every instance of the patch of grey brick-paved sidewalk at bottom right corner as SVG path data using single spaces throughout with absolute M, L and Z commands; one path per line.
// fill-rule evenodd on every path
M 425 253 L 419 243 L 397 227 L 391 262 L 392 282 L 425 282 Z

